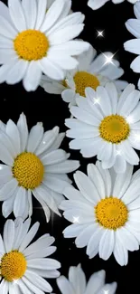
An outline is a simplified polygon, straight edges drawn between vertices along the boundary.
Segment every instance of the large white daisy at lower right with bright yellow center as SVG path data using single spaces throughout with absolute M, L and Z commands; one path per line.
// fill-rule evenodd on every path
M 65 238 L 76 238 L 78 248 L 87 246 L 89 258 L 99 254 L 105 261 L 113 253 L 120 265 L 126 265 L 128 251 L 139 249 L 140 242 L 140 170 L 133 173 L 127 165 L 123 175 L 103 169 L 101 163 L 88 165 L 88 175 L 76 172 L 79 190 L 68 187 L 61 203 L 64 217 L 72 223 Z

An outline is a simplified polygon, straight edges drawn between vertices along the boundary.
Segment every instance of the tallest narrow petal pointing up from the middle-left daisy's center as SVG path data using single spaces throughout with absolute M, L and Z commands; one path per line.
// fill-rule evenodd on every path
M 20 118 L 17 122 L 17 128 L 19 130 L 19 135 L 20 135 L 20 149 L 21 152 L 25 150 L 26 144 L 27 144 L 27 138 L 28 138 L 28 126 L 27 126 L 27 121 L 25 115 L 22 113 L 20 115 Z

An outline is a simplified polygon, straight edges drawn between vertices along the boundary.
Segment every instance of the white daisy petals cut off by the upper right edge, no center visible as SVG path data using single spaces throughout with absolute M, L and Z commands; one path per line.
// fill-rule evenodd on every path
M 132 39 L 124 43 L 125 50 L 137 54 L 138 56 L 130 64 L 130 68 L 139 73 L 140 72 L 140 2 L 134 5 L 135 17 L 137 19 L 129 19 L 126 22 L 127 30 L 132 33 L 136 39 Z M 140 89 L 140 79 L 138 81 L 138 88 Z

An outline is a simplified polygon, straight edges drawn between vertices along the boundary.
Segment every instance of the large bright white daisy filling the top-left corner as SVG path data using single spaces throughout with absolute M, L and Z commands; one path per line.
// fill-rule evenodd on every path
M 39 86 L 42 72 L 63 80 L 65 70 L 78 64 L 72 56 L 89 48 L 72 40 L 83 30 L 84 15 L 68 15 L 70 0 L 55 0 L 47 13 L 47 0 L 9 0 L 8 5 L 0 2 L 0 82 L 23 80 L 30 91 Z

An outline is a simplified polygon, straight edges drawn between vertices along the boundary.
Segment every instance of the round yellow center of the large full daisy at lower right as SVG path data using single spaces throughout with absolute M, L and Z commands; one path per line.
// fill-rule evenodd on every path
M 102 199 L 95 207 L 95 213 L 98 223 L 110 230 L 122 227 L 128 217 L 126 205 L 112 196 Z

